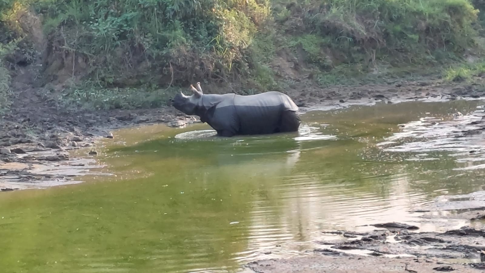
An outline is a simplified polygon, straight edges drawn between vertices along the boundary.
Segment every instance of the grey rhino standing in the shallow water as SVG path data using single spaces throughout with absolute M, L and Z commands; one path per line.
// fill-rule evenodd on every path
M 191 85 L 192 96 L 180 92 L 172 105 L 188 115 L 198 115 L 218 136 L 272 134 L 294 132 L 300 127 L 298 106 L 281 92 L 257 95 L 204 94 L 197 82 Z

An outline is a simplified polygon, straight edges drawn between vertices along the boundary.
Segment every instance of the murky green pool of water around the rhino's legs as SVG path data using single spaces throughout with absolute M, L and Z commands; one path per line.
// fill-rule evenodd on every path
M 312 111 L 299 133 L 272 136 L 216 138 L 203 124 L 119 131 L 98 157 L 111 176 L 0 195 L 0 267 L 231 272 L 312 249 L 331 239 L 323 230 L 413 223 L 439 195 L 482 189 L 484 137 L 460 135 L 482 105 Z

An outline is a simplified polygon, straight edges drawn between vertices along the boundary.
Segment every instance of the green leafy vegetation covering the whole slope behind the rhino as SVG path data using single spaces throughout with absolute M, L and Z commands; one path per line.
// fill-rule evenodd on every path
M 480 48 L 484 7 L 483 0 L 0 0 L 0 44 L 18 46 L 0 57 L 42 64 L 40 78 L 63 84 L 63 101 L 151 107 L 199 80 L 256 93 L 307 75 L 328 86 L 457 61 Z

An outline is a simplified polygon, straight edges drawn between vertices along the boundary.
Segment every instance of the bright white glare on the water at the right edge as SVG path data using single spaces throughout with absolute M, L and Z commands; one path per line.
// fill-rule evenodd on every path
M 481 123 L 485 111 L 481 105 L 476 108 L 468 114 L 455 114 L 452 120 L 426 116 L 410 121 L 379 146 L 384 151 L 419 153 L 408 155 L 406 161 L 439 161 L 451 156 L 462 163 L 453 168 L 455 171 L 485 169 L 485 130 Z M 441 158 L 430 156 L 430 152 L 442 152 Z

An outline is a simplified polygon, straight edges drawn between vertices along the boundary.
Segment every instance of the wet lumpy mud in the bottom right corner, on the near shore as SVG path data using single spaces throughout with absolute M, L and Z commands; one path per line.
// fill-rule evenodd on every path
M 328 231 L 341 238 L 286 259 L 242 266 L 245 273 L 273 272 L 480 272 L 485 269 L 485 230 L 463 226 L 446 232 L 412 231 L 416 226 L 383 223 L 370 232 Z

